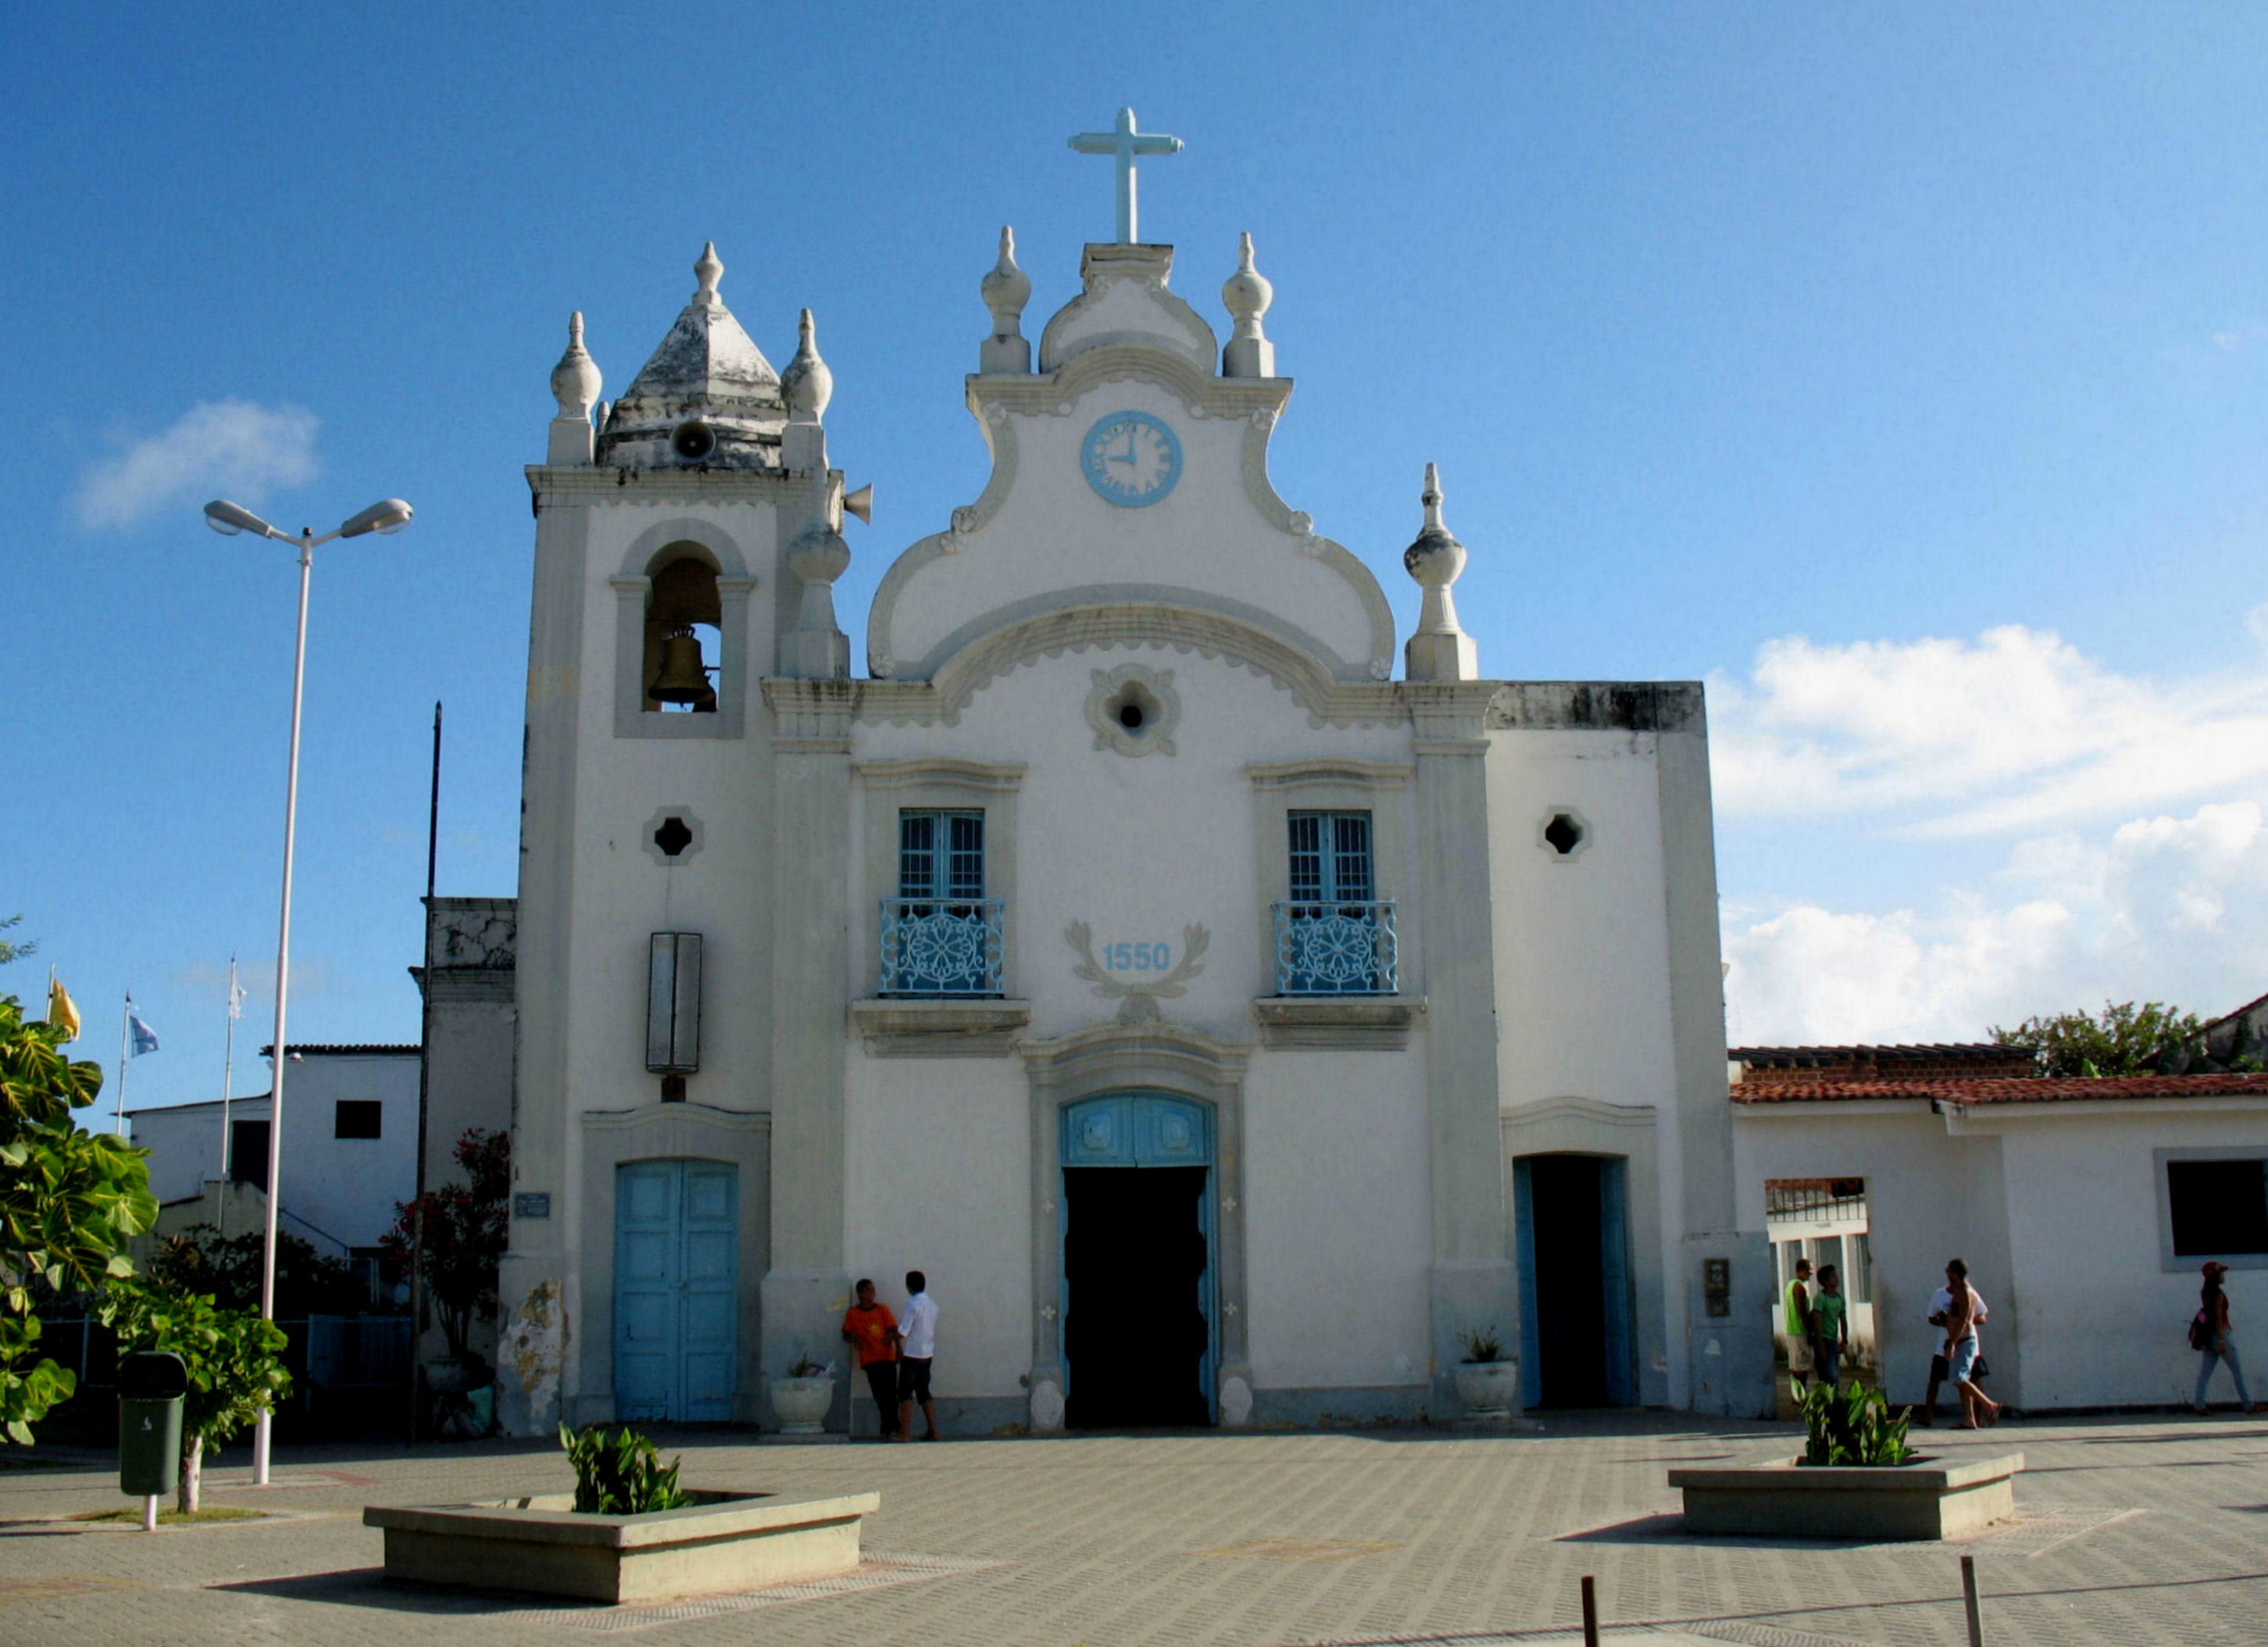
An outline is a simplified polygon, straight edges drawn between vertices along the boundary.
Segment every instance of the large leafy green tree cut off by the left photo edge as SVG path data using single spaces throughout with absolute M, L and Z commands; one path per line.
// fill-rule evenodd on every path
M 32 1359 L 36 1304 L 134 1275 L 125 1243 L 156 1223 L 141 1150 L 73 1123 L 102 1091 L 102 1069 L 68 1062 L 61 1034 L 0 996 L 0 1427 L 23 1445 L 77 1388 L 66 1368 Z

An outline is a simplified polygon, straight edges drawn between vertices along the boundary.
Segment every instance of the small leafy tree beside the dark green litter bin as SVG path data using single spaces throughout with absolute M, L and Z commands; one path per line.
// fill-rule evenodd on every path
M 195 1515 L 204 1445 L 220 1447 L 290 1393 L 284 1329 L 249 1309 L 220 1309 L 204 1293 L 156 1279 L 113 1282 L 102 1293 L 102 1320 L 118 1332 L 118 1354 L 170 1350 L 188 1368 L 177 1504 Z

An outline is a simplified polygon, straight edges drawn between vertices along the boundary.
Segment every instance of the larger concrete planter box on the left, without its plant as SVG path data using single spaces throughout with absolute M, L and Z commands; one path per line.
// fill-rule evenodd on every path
M 363 1511 L 386 1531 L 386 1577 L 585 1602 L 662 1602 L 857 1570 L 880 1493 L 692 1493 L 651 1515 L 576 1515 L 574 1493 Z

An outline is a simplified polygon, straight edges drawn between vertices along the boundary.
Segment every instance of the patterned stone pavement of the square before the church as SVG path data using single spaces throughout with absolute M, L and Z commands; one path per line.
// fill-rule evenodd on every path
M 1794 1450 L 1787 1427 L 1674 1413 L 1549 1418 L 1540 1436 L 1195 1434 L 946 1445 L 665 1436 L 689 1486 L 882 1493 L 853 1579 L 651 1608 L 386 1586 L 363 1504 L 560 1490 L 556 1447 L 293 1450 L 209 1502 L 259 1522 L 91 1529 L 102 1459 L 0 1450 L 0 1642 L 848 1642 L 1490 1647 L 1565 1642 L 1597 1574 L 1626 1647 L 1960 1647 L 1960 1554 L 1987 1642 L 2268 1640 L 2268 1422 L 1930 1431 L 2021 1447 L 2019 1520 L 1964 1545 L 1687 1538 L 1662 1472 Z

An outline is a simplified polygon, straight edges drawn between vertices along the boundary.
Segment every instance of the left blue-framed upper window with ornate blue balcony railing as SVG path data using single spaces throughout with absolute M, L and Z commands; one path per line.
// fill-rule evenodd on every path
M 984 896 L 984 812 L 898 812 L 898 896 L 882 901 L 885 996 L 998 996 L 1000 901 Z

